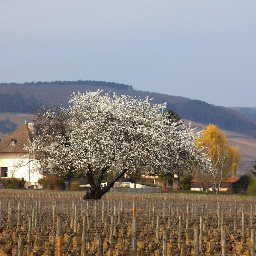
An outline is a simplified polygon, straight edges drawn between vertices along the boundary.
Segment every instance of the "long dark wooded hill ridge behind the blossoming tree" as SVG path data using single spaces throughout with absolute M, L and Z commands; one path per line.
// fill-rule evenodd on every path
M 180 96 L 142 92 L 132 86 L 114 82 L 102 81 L 55 81 L 26 82 L 24 84 L 0 84 L 0 112 L 32 113 L 40 104 L 67 104 L 72 92 L 95 91 L 117 92 L 130 96 L 146 95 L 153 97 L 154 103 L 167 102 L 168 108 L 173 108 L 182 118 L 202 124 L 216 124 L 221 129 L 256 137 L 256 121 L 244 110 L 229 109 L 210 105 L 200 100 L 190 100 Z M 1 132 L 1 131 L 0 131 Z

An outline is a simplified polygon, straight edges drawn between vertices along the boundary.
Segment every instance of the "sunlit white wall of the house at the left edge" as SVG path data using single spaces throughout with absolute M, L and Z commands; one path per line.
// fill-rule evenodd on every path
M 8 168 L 8 178 L 24 178 L 27 182 L 34 184 L 38 178 L 42 177 L 36 171 L 34 162 L 26 153 L 19 152 L 0 152 L 0 167 Z

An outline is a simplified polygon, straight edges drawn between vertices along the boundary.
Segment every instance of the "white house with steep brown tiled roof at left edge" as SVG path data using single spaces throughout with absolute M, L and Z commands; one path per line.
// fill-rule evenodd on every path
M 30 146 L 34 134 L 33 123 L 25 123 L 0 141 L 0 178 L 24 177 L 29 186 L 42 177 L 24 149 L 24 146 Z

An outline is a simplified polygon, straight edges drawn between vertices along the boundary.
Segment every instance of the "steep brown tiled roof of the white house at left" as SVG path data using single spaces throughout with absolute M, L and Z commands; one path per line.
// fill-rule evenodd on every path
M 12 139 L 16 143 L 12 145 Z M 23 124 L 4 140 L 0 141 L 0 152 L 26 152 L 24 146 L 30 146 L 33 140 L 33 134 L 28 128 L 28 124 Z

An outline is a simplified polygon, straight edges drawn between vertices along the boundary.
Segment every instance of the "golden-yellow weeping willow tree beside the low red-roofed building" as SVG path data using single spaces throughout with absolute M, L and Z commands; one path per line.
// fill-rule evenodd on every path
M 199 146 L 211 159 L 212 168 L 207 174 L 201 174 L 205 184 L 218 193 L 221 182 L 230 176 L 235 176 L 239 167 L 241 154 L 238 146 L 230 146 L 224 132 L 214 125 L 204 127 L 202 136 L 197 139 Z

